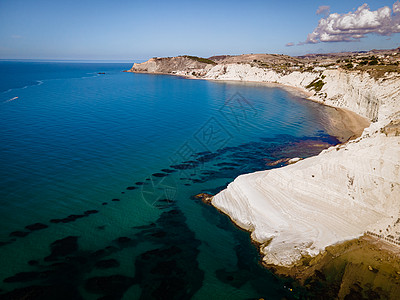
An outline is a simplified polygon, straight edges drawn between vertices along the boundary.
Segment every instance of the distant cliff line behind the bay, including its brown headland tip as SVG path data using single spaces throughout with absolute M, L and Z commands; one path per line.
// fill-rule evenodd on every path
M 151 58 L 144 63 L 135 63 L 129 72 L 283 84 L 311 92 L 311 100 L 349 109 L 373 122 L 383 121 L 397 111 L 396 99 L 400 98 L 399 73 L 375 79 L 361 71 L 277 72 L 250 63 L 229 62 L 230 57 L 218 64 L 193 56 Z

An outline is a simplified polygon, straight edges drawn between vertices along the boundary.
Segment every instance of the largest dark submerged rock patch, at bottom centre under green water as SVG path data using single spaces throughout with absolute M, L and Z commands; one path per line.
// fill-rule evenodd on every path
M 202 285 L 204 272 L 197 262 L 201 243 L 187 227 L 182 211 L 173 203 L 171 208 L 136 234 L 139 240 L 159 245 L 136 257 L 139 299 L 190 299 Z

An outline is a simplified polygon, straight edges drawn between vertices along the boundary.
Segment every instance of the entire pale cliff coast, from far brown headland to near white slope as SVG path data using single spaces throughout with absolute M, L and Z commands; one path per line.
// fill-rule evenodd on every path
M 131 71 L 283 84 L 372 121 L 356 140 L 294 165 L 239 176 L 213 197 L 212 205 L 260 243 L 266 265 L 295 265 L 367 231 L 400 244 L 399 73 L 373 78 L 342 69 L 278 72 L 251 63 L 180 61 L 150 60 Z

